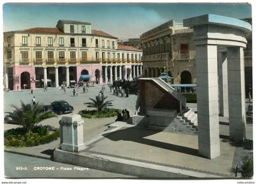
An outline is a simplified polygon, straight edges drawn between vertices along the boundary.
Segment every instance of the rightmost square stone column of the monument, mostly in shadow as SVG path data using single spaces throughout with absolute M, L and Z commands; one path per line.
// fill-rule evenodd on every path
M 235 141 L 245 137 L 246 111 L 243 48 L 227 48 L 229 83 L 229 136 Z

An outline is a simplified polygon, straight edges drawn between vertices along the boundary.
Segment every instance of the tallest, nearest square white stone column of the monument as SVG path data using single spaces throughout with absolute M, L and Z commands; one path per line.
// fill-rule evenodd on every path
M 196 78 L 199 154 L 212 159 L 220 155 L 216 45 L 196 46 Z

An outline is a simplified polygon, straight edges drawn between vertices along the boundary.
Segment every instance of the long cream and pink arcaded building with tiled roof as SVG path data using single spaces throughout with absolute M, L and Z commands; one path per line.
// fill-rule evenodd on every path
M 71 80 L 108 83 L 141 76 L 142 51 L 91 24 L 60 20 L 56 27 L 4 32 L 4 85 L 10 90 L 69 85 Z M 47 82 L 46 82 L 47 81 Z

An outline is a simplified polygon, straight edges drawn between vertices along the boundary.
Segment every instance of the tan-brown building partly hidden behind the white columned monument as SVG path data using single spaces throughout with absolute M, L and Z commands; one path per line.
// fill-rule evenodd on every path
M 243 19 L 251 23 L 252 19 Z M 143 46 L 143 68 L 146 77 L 158 77 L 164 71 L 174 83 L 196 83 L 193 29 L 168 21 L 140 36 Z M 244 49 L 246 96 L 252 91 L 252 35 Z M 252 94 L 251 94 L 252 95 Z

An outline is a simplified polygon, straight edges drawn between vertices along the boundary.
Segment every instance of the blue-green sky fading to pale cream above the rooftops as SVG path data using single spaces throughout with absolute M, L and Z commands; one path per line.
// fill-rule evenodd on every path
M 5 3 L 3 5 L 4 32 L 32 27 L 55 27 L 59 19 L 87 21 L 92 29 L 99 29 L 115 37 L 138 38 L 143 32 L 175 19 L 204 14 L 217 14 L 233 18 L 251 18 L 251 5 L 246 3 L 212 4 L 43 4 Z

